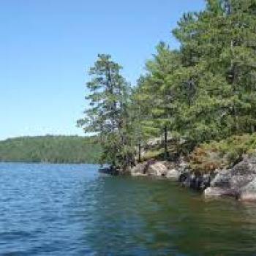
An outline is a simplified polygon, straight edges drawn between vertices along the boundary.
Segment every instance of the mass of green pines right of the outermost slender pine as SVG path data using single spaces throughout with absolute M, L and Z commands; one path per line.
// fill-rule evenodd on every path
M 255 1 L 208 0 L 173 30 L 180 50 L 160 43 L 138 83 L 140 123 L 148 136 L 164 127 L 196 146 L 256 129 Z

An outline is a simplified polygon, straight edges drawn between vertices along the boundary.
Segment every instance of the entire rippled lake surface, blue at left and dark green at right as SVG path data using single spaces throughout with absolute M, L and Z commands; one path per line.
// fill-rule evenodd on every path
M 95 165 L 0 164 L 0 255 L 256 255 L 256 206 Z

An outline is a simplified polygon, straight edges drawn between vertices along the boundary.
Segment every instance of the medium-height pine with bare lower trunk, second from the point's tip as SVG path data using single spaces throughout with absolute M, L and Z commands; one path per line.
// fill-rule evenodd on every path
M 140 84 L 140 93 L 144 95 L 148 108 L 143 129 L 148 135 L 164 135 L 165 159 L 168 157 L 167 132 L 172 122 L 172 92 L 167 84 L 167 76 L 178 67 L 179 55 L 164 43 L 157 45 L 154 58 L 146 62 L 147 74 Z

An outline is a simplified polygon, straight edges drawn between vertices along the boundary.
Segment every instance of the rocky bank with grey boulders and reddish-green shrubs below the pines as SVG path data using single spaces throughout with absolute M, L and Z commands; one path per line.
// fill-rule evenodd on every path
M 236 200 L 256 202 L 256 136 L 233 136 L 219 142 L 200 145 L 189 154 L 186 141 L 167 140 L 171 151 L 168 160 L 162 160 L 159 148 L 161 138 L 152 138 L 141 148 L 142 162 L 124 170 L 102 168 L 110 175 L 155 176 L 179 182 L 195 189 L 205 197 L 233 197 Z M 178 145 L 178 147 L 177 147 Z M 154 156 L 152 156 L 154 153 Z

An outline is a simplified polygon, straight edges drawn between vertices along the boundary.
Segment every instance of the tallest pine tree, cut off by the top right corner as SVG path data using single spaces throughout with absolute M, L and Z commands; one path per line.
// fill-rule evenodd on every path
M 217 10 L 217 11 L 216 11 Z M 206 70 L 222 80 L 228 92 L 222 105 L 224 130 L 230 134 L 255 129 L 255 1 L 208 1 L 200 15 L 205 28 Z M 210 24 L 210 25 L 207 25 Z M 211 45 L 211 47 L 209 47 Z M 224 133 L 224 132 L 222 132 Z

